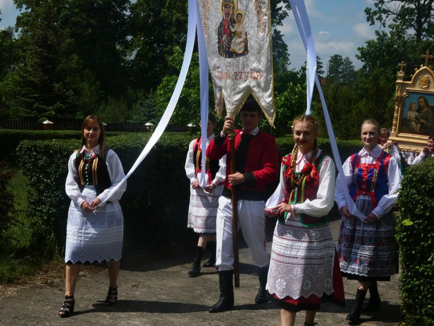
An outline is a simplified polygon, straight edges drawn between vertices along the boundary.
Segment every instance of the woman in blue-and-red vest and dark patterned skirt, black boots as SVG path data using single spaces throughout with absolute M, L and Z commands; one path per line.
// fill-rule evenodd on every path
M 391 210 L 398 198 L 401 175 L 395 159 L 378 146 L 379 137 L 378 123 L 365 120 L 361 127 L 364 146 L 345 161 L 344 175 L 339 174 L 336 181 L 335 201 L 342 215 L 337 243 L 340 268 L 342 275 L 358 281 L 356 302 L 346 317 L 353 322 L 360 319 L 362 308 L 379 308 L 376 281 L 390 281 L 397 270 Z M 345 192 L 367 216 L 364 221 L 348 211 Z M 368 289 L 369 302 L 362 307 Z

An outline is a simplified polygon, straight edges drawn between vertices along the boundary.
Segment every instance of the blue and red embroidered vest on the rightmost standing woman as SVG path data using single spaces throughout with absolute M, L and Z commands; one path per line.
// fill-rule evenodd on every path
M 351 155 L 352 178 L 349 195 L 356 201 L 359 195 L 371 197 L 372 209 L 377 207 L 379 200 L 389 193 L 387 170 L 392 156 L 382 151 L 373 164 L 360 163 L 359 153 Z

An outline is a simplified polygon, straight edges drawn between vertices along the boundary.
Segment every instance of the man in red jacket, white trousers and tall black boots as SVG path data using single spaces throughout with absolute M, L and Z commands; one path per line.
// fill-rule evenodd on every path
M 233 292 L 233 231 L 231 189 L 236 189 L 238 223 L 242 235 L 249 245 L 253 261 L 258 266 L 259 291 L 255 302 L 266 303 L 265 286 L 267 282 L 270 257 L 266 250 L 265 236 L 265 187 L 276 180 L 279 169 L 276 140 L 261 132 L 258 123 L 261 108 L 254 99 L 248 99 L 240 111 L 242 130 L 235 130 L 229 116 L 220 135 L 215 136 L 207 148 L 209 159 L 220 159 L 227 154 L 226 180 L 223 195 L 219 199 L 217 212 L 216 262 L 219 270 L 220 299 L 209 312 L 221 312 L 234 305 Z M 235 131 L 235 153 L 231 153 L 230 131 Z M 236 172 L 231 174 L 231 156 L 236 156 Z

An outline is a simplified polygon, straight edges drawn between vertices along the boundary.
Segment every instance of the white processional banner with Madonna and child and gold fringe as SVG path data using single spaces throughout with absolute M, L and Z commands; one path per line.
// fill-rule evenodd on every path
M 198 0 L 215 109 L 234 117 L 250 94 L 267 120 L 276 113 L 269 0 Z

